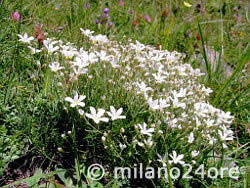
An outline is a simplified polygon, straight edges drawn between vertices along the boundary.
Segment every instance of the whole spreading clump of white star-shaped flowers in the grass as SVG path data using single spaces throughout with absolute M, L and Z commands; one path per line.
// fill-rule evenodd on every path
M 49 68 L 55 74 L 65 78 L 66 82 L 79 80 L 81 75 L 87 75 L 89 68 L 94 64 L 106 69 L 113 69 L 120 75 L 120 80 L 110 80 L 110 83 L 123 82 L 124 87 L 129 92 L 134 92 L 138 97 L 142 97 L 148 110 L 158 114 L 162 120 L 160 123 L 140 122 L 135 127 L 137 133 L 133 136 L 131 144 L 150 149 L 157 142 L 157 135 L 166 133 L 166 131 L 186 132 L 183 140 L 192 144 L 196 138 L 202 137 L 203 145 L 215 145 L 218 143 L 227 147 L 227 141 L 233 140 L 233 131 L 230 130 L 230 124 L 233 117 L 230 112 L 223 112 L 214 108 L 207 100 L 211 89 L 206 88 L 200 83 L 200 76 L 203 74 L 199 69 L 193 69 L 191 65 L 182 62 L 182 54 L 169 52 L 167 50 L 156 50 L 154 47 L 146 46 L 136 41 L 128 44 L 109 40 L 104 35 L 93 35 L 93 31 L 81 29 L 82 34 L 88 38 L 91 47 L 87 50 L 74 47 L 72 43 L 64 44 L 62 41 L 47 38 L 44 41 L 44 48 L 48 54 L 60 54 L 65 57 L 65 61 L 51 62 Z M 27 34 L 19 36 L 21 42 L 31 44 L 34 38 Z M 40 52 L 29 46 L 33 53 Z M 70 106 L 84 107 L 83 100 L 86 96 L 75 94 L 74 98 L 66 97 Z M 88 100 L 88 99 L 87 99 Z M 125 119 L 121 115 L 123 109 L 118 110 L 110 106 L 110 111 L 106 112 L 103 108 L 96 109 L 90 107 L 90 113 L 85 113 L 83 109 L 78 109 L 80 115 L 85 115 L 92 119 L 96 124 L 108 122 L 117 119 Z M 146 121 L 146 120 L 145 120 Z M 124 134 L 126 130 L 121 131 Z M 199 135 L 198 135 L 199 134 Z M 102 137 L 103 143 L 107 142 L 108 133 Z M 155 140 L 156 139 L 156 140 Z M 121 150 L 128 148 L 128 143 L 117 143 Z M 105 146 L 107 147 L 107 146 Z M 199 155 L 199 148 L 192 150 L 192 157 Z M 166 157 L 159 160 L 165 161 Z M 173 150 L 170 155 L 172 163 L 180 163 L 184 155 L 177 155 Z M 165 165 L 165 162 L 163 162 Z

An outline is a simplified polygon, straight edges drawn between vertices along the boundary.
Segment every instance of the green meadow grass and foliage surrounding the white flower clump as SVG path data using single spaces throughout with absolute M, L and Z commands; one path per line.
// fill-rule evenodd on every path
M 88 76 L 82 76 L 79 80 L 73 79 L 72 81 L 69 74 L 72 70 L 68 65 L 69 59 L 72 57 L 49 53 L 46 50 L 39 54 L 32 54 L 26 44 L 18 41 L 20 38 L 18 34 L 28 33 L 29 36 L 35 36 L 35 33 L 38 32 L 42 34 L 44 41 L 46 38 L 55 37 L 54 40 L 62 40 L 64 44 L 72 42 L 72 48 L 77 51 L 83 47 L 89 52 L 93 52 L 94 49 L 97 52 L 104 50 L 108 54 L 113 53 L 109 51 L 112 46 L 108 46 L 109 48 L 106 49 L 101 45 L 93 44 L 93 41 L 87 36 L 82 35 L 80 28 L 93 30 L 96 34 L 100 33 L 108 36 L 109 39 L 120 42 L 119 44 L 112 43 L 112 45 L 126 46 L 137 40 L 142 44 L 162 50 L 176 50 L 184 54 L 180 60 L 183 64 L 189 63 L 194 68 L 200 68 L 206 72 L 206 75 L 197 82 L 195 80 L 195 83 L 204 84 L 211 88 L 213 93 L 209 95 L 209 98 L 205 99 L 205 94 L 201 98 L 204 97 L 204 99 L 202 98 L 204 102 L 209 100 L 209 103 L 218 109 L 232 113 L 234 121 L 231 128 L 235 138 L 228 149 L 219 146 L 201 147 L 204 155 L 200 161 L 197 160 L 197 163 L 201 164 L 206 161 L 208 166 L 213 164 L 220 167 L 225 162 L 223 159 L 225 154 L 231 158 L 231 162 L 239 166 L 248 166 L 247 151 L 249 150 L 250 134 L 249 5 L 246 1 L 233 0 L 187 2 L 192 6 L 185 5 L 183 1 L 171 0 L 131 0 L 124 1 L 123 6 L 119 5 L 119 1 L 113 0 L 1 1 L 0 122 L 2 126 L 0 131 L 2 152 L 0 173 L 3 177 L 2 185 L 6 184 L 7 176 L 4 171 L 8 164 L 27 153 L 42 155 L 44 160 L 49 161 L 51 168 L 49 168 L 50 165 L 46 167 L 41 165 L 41 168 L 52 172 L 43 174 L 42 170 L 37 170 L 33 177 L 21 181 L 29 182 L 29 185 L 36 185 L 41 178 L 45 178 L 50 184 L 60 186 L 55 180 L 59 176 L 60 180 L 69 187 L 85 187 L 86 184 L 82 183 L 83 179 L 93 187 L 102 187 L 105 184 L 107 187 L 111 185 L 113 187 L 147 187 L 149 182 L 145 180 L 141 180 L 139 183 L 117 180 L 112 175 L 100 183 L 93 182 L 88 178 L 86 168 L 93 161 L 107 164 L 107 169 L 112 169 L 116 165 L 132 166 L 134 161 L 143 161 L 144 164 L 149 165 L 148 160 L 155 159 L 159 151 L 167 151 L 171 154 L 173 150 L 177 150 L 178 154 L 186 152 L 185 156 L 188 153 L 181 145 L 181 137 L 188 136 L 189 129 L 185 129 L 181 133 L 164 132 L 170 138 L 154 137 L 153 141 L 159 143 L 153 146 L 152 151 L 138 149 L 138 146 L 130 143 L 135 135 L 140 135 L 139 128 L 134 130 L 136 124 L 144 121 L 147 124 L 157 124 L 158 121 L 164 121 L 165 118 L 161 113 L 154 113 L 154 110 L 147 107 L 145 101 L 148 99 L 145 100 L 145 96 L 136 93 L 138 92 L 135 89 L 136 84 L 133 86 L 135 90 L 127 91 L 126 84 L 130 83 L 132 86 L 133 81 L 137 81 L 137 86 L 140 85 L 140 79 L 146 80 L 148 84 L 152 83 L 147 80 L 147 76 L 144 76 L 145 72 L 138 67 L 136 68 L 134 65 L 127 67 L 126 64 L 122 64 L 127 61 L 126 57 L 130 57 L 130 53 L 134 53 L 132 55 L 134 58 L 139 52 L 138 54 L 133 52 L 134 49 L 130 49 L 128 52 L 121 50 L 122 60 L 119 61 L 123 67 L 121 70 L 115 69 L 116 71 L 114 71 L 113 65 L 105 63 L 104 66 L 98 63 L 89 67 Z M 105 8 L 109 8 L 109 17 L 103 16 Z M 20 13 L 19 21 L 13 20 L 12 11 Z M 98 23 L 96 23 L 97 19 Z M 34 29 L 35 25 L 40 25 L 40 29 Z M 37 42 L 33 44 L 33 47 L 42 49 L 45 44 Z M 94 52 L 97 53 L 96 51 Z M 135 64 L 139 62 L 138 59 L 130 58 Z M 67 69 L 63 75 L 55 74 L 49 69 L 49 65 L 54 61 L 59 61 L 60 65 Z M 226 67 L 231 68 L 231 73 L 228 74 L 229 69 Z M 176 74 L 178 75 L 178 73 Z M 114 83 L 112 80 L 118 82 Z M 149 95 L 165 94 L 163 88 L 166 86 L 156 84 L 155 87 L 157 90 Z M 178 91 L 178 87 L 169 84 L 166 90 L 171 93 L 175 89 Z M 77 109 L 65 105 L 64 98 L 73 98 L 75 91 L 81 92 L 79 95 L 86 96 L 85 105 L 88 108 L 85 108 L 84 111 L 89 112 L 90 106 L 96 107 L 96 110 L 98 107 L 108 111 L 111 105 L 115 105 L 116 109 L 123 107 L 127 119 L 108 125 L 93 124 L 88 121 L 87 115 L 83 118 Z M 178 116 L 181 111 L 173 111 L 173 113 Z M 169 120 L 168 123 L 172 122 L 170 123 Z M 122 135 L 123 129 L 126 130 L 126 137 Z M 102 138 L 101 142 L 100 138 Z M 142 138 L 143 135 L 140 135 L 137 139 Z M 204 142 L 201 136 L 199 139 L 197 138 L 201 143 Z M 121 142 L 124 142 L 128 149 L 126 153 L 117 149 L 124 146 L 119 146 L 122 144 Z M 107 153 L 104 153 L 105 151 Z M 215 151 L 221 156 L 215 157 Z M 164 153 L 161 154 L 164 155 Z M 218 157 L 221 160 L 207 162 L 211 155 L 213 159 Z M 166 162 L 169 170 L 168 161 L 169 159 Z M 58 170 L 57 166 L 69 171 L 73 168 L 72 171 L 76 176 L 66 178 L 65 174 L 62 175 L 65 171 Z M 76 182 L 73 183 L 71 178 Z M 168 180 L 150 181 L 150 186 L 247 187 L 249 173 L 243 174 L 238 181 L 227 178 L 201 180 L 198 177 L 193 181 L 172 181 L 171 178 Z M 21 181 L 19 183 L 22 183 Z

